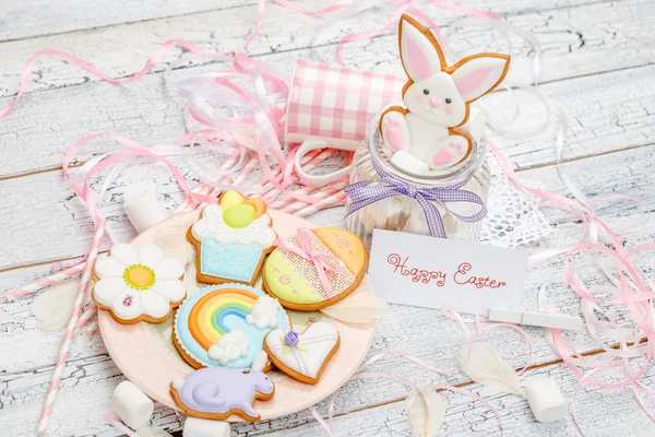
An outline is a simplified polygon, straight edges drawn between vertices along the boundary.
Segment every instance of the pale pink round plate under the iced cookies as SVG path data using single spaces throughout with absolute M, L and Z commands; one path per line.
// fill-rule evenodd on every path
M 299 227 L 314 227 L 303 218 L 277 211 L 269 213 L 273 218 L 273 228 L 281 238 L 294 235 Z M 144 231 L 132 243 L 136 246 L 158 244 L 168 256 L 193 256 L 194 248 L 186 243 L 186 233 L 198 217 L 198 211 L 175 215 Z M 184 251 L 188 251 L 187 256 Z M 190 269 L 194 269 L 193 263 L 190 264 Z M 194 293 L 194 290 L 190 288 L 205 286 L 205 284 L 196 284 L 193 281 L 195 276 L 193 271 L 191 274 L 188 270 L 184 281 L 189 294 Z M 259 284 L 255 287 L 261 290 Z M 364 279 L 355 293 L 372 293 L 368 277 Z M 275 395 L 270 401 L 257 401 L 254 404 L 262 421 L 305 410 L 335 392 L 361 365 L 373 338 L 374 322 L 352 324 L 329 318 L 319 311 L 288 312 L 294 327 L 298 329 L 303 329 L 305 326 L 320 319 L 330 320 L 338 329 L 341 346 L 325 367 L 320 381 L 314 386 L 298 382 L 279 371 L 269 373 L 275 381 Z M 193 368 L 181 358 L 172 344 L 170 336 L 172 318 L 168 318 L 163 323 L 121 324 L 108 311 L 100 310 L 98 321 L 105 346 L 120 370 L 147 395 L 175 409 L 169 392 L 170 381 L 190 374 Z M 231 416 L 230 421 L 241 420 Z

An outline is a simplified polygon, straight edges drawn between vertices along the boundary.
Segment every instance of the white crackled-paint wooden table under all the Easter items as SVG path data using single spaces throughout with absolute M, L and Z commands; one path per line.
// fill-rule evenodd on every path
M 438 24 L 446 26 L 457 15 L 417 1 Z M 299 0 L 317 9 L 324 2 Z M 655 204 L 655 4 L 650 0 L 467 0 L 466 5 L 499 12 L 510 23 L 533 32 L 544 49 L 541 91 L 565 108 L 570 126 L 563 172 L 592 198 L 623 193 Z M 359 17 L 350 17 L 321 34 L 315 49 L 332 56 L 344 35 L 378 28 L 392 12 L 386 2 Z M 3 0 L 0 5 L 0 107 L 16 91 L 23 66 L 38 49 L 70 50 L 114 76 L 128 76 L 168 38 L 187 38 L 216 49 L 243 43 L 254 25 L 255 0 Z M 317 20 L 269 4 L 265 24 L 248 54 L 290 74 L 295 59 L 312 56 L 312 28 Z M 466 29 L 451 38 L 463 50 L 501 50 L 504 42 L 487 31 Z M 366 44 L 347 46 L 346 61 L 356 68 L 400 73 L 395 28 Z M 528 64 L 526 46 L 514 48 L 516 66 Z M 177 61 L 180 51 L 167 58 Z M 524 60 L 522 60 L 524 59 Z M 166 73 L 168 81 L 212 71 L 215 66 L 190 59 Z M 148 142 L 183 132 L 183 107 L 175 86 L 160 86 L 165 64 L 139 83 L 119 90 L 67 64 L 43 58 L 32 74 L 29 91 L 16 110 L 0 121 L 0 290 L 13 290 L 38 279 L 56 263 L 84 255 L 92 238 L 92 222 L 80 199 L 63 184 L 61 158 L 84 134 L 114 132 Z M 502 108 L 508 93 L 487 97 Z M 517 95 L 527 119 L 544 116 L 539 104 Z M 535 121 L 536 122 L 536 121 Z M 527 129 L 527 126 L 524 127 Z M 528 184 L 567 193 L 558 179 L 553 129 L 532 139 L 499 139 L 503 152 Z M 98 141 L 81 160 L 107 150 Z M 82 162 L 82 161 L 81 161 Z M 131 168 L 111 188 L 104 211 L 118 240 L 134 235 L 122 213 L 123 186 L 154 180 L 171 211 L 181 194 L 162 168 Z M 97 185 L 96 185 L 97 188 Z M 631 203 L 598 210 L 611 225 L 638 223 L 643 212 Z M 311 217 L 317 224 L 340 224 L 341 209 Z M 574 240 L 580 223 L 563 213 L 549 213 L 553 232 Z M 629 246 L 653 240 L 655 222 L 626 237 Z M 646 258 L 654 261 L 654 258 Z M 538 287 L 551 284 L 550 300 L 560 310 L 576 312 L 579 299 L 564 286 L 561 259 L 531 268 L 525 308 L 536 308 Z M 61 332 L 44 332 L 31 315 L 31 298 L 0 307 L 0 435 L 33 435 L 60 344 Z M 535 345 L 535 365 L 522 378 L 548 375 L 561 385 L 569 401 L 576 379 L 561 364 L 540 331 L 528 330 Z M 371 354 L 402 349 L 436 366 L 454 368 L 453 353 L 464 339 L 456 323 L 440 312 L 391 306 L 379 322 Z M 498 332 L 491 341 L 504 351 L 517 350 L 520 340 Z M 597 347 L 584 335 L 580 352 Z M 513 362 L 519 368 L 522 363 Z M 537 423 L 526 402 L 471 383 L 462 374 L 439 379 L 401 357 L 388 357 L 379 371 L 406 376 L 418 383 L 464 385 L 485 395 L 502 415 L 508 436 L 570 436 L 576 433 L 571 417 Z M 655 383 L 650 369 L 644 383 Z M 122 380 L 105 351 L 100 336 L 80 333 L 66 368 L 51 421 L 51 435 L 120 435 L 105 424 L 109 397 Z M 338 436 L 409 436 L 404 397 L 407 388 L 385 380 L 345 386 L 334 421 Z M 648 421 L 629 390 L 584 387 L 577 401 L 582 427 L 588 436 L 652 436 Z M 461 395 L 444 394 L 445 423 L 440 435 L 499 435 L 493 415 L 481 404 Z M 655 406 L 655 399 L 646 397 Z M 325 405 L 319 405 L 325 412 Z M 152 426 L 179 430 L 180 420 L 169 409 L 158 409 Z M 271 422 L 234 426 L 238 436 L 314 436 L 322 429 L 308 412 Z

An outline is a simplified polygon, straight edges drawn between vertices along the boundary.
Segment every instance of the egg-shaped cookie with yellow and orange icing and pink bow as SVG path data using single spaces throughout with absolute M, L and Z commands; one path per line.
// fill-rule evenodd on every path
M 266 259 L 264 290 L 291 309 L 313 311 L 349 295 L 361 282 L 368 252 L 338 227 L 300 228 Z

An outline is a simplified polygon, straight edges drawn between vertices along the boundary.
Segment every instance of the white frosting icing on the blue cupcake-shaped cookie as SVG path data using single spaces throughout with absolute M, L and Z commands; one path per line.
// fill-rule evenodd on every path
M 269 214 L 255 218 L 246 227 L 229 227 L 223 221 L 223 209 L 221 205 L 207 205 L 202 212 L 202 218 L 195 222 L 191 228 L 193 238 L 199 241 L 214 239 L 217 243 L 237 245 L 257 245 L 262 249 L 273 246 L 275 232 L 271 228 Z

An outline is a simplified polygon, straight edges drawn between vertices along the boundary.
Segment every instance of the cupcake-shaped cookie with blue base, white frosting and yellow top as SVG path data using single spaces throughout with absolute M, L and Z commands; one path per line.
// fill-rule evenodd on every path
M 187 233 L 198 252 L 199 282 L 253 285 L 264 256 L 276 239 L 261 199 L 245 199 L 238 191 L 225 191 L 218 204 L 207 205 Z

